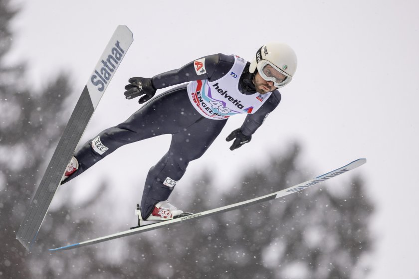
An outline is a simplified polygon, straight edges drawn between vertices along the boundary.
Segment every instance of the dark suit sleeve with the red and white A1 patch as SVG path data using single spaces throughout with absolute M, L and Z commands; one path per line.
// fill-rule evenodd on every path
M 205 59 L 202 65 L 204 67 L 201 67 L 199 62 L 203 61 L 203 59 Z M 179 69 L 171 70 L 154 76 L 152 78 L 154 88 L 162 89 L 171 85 L 181 84 L 194 80 L 217 80 L 224 76 L 234 64 L 233 56 L 225 55 L 222 53 L 204 56 L 197 60 L 191 61 Z M 200 70 L 203 68 L 205 71 L 202 71 L 201 74 L 198 75 Z

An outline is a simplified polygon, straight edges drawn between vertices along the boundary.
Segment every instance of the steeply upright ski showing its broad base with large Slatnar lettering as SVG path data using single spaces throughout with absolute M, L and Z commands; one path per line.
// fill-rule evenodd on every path
M 28 251 L 30 251 L 36 240 L 52 198 L 61 182 L 65 167 L 70 161 L 94 110 L 132 42 L 133 35 L 130 29 L 125 25 L 119 25 L 81 93 L 17 231 L 16 239 Z

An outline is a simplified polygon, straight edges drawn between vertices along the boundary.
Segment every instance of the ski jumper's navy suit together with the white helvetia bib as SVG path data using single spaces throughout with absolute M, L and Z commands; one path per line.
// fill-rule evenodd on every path
M 279 104 L 279 91 L 266 94 L 255 91 L 249 64 L 240 57 L 219 53 L 154 76 L 156 89 L 189 84 L 160 94 L 125 122 L 86 142 L 74 154 L 79 169 L 64 183 L 122 145 L 171 134 L 168 152 L 151 167 L 146 178 L 140 208 L 146 220 L 156 203 L 169 198 L 189 162 L 205 153 L 228 117 L 246 113 L 241 131 L 249 136 Z

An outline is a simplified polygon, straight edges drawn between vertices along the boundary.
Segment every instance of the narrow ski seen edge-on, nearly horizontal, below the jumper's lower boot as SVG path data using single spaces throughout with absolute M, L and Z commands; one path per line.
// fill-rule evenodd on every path
M 261 197 L 257 197 L 257 198 L 253 198 L 253 199 L 249 199 L 246 201 L 242 201 L 242 202 L 238 202 L 238 203 L 234 203 L 234 204 L 230 204 L 230 205 L 226 205 L 226 206 L 222 206 L 222 207 L 218 207 L 215 209 L 211 209 L 211 210 L 207 210 L 204 212 L 200 212 L 200 213 L 195 213 L 192 215 L 188 215 L 185 217 L 180 217 L 180 218 L 176 218 L 176 219 L 171 219 L 168 221 L 163 221 L 160 223 L 155 223 L 155 224 L 151 224 L 151 225 L 147 225 L 147 226 L 142 226 L 142 227 L 137 227 L 137 228 L 133 228 L 131 230 L 128 231 L 124 231 L 124 232 L 119 232 L 116 234 L 112 234 L 112 235 L 108 235 L 108 236 L 104 236 L 104 237 L 100 237 L 100 238 L 95 238 L 95 239 L 91 239 L 91 240 L 87 240 L 84 242 L 80 242 L 80 243 L 75 243 L 75 244 L 71 244 L 71 245 L 67 245 L 67 246 L 63 246 L 63 247 L 59 247 L 59 248 L 53 248 L 53 249 L 49 249 L 49 251 L 60 251 L 60 250 L 68 250 L 68 249 L 73 249 L 73 248 L 78 248 L 78 247 L 82 247 L 82 246 L 86 246 L 86 245 L 92 245 L 95 243 L 99 243 L 99 242 L 104 242 L 104 241 L 108 241 L 108 240 L 112 240 L 115 238 L 120 238 L 120 237 L 125 237 L 125 236 L 129 236 L 129 235 L 134 235 L 134 234 L 139 234 L 139 233 L 143 233 L 143 232 L 147 232 L 147 231 L 151 231 L 151 230 L 156 230 L 162 227 L 168 227 L 168 226 L 172 226 L 174 224 L 177 223 L 182 223 L 183 221 L 186 220 L 192 220 L 192 219 L 198 219 L 198 218 L 203 218 L 203 217 L 207 217 L 213 214 L 218 214 L 221 212 L 226 212 L 226 211 L 231 211 L 240 207 L 245 207 L 245 206 L 249 206 L 255 203 L 259 203 L 259 202 L 264 202 L 264 201 L 268 201 L 268 200 L 272 200 L 272 199 L 277 199 L 304 189 L 307 189 L 313 185 L 317 185 L 323 181 L 326 181 L 330 178 L 336 177 L 342 173 L 348 172 L 351 169 L 354 169 L 356 167 L 359 167 L 360 165 L 366 163 L 366 159 L 357 159 L 341 168 L 332 170 L 328 173 L 325 173 L 323 175 L 317 176 L 316 178 L 313 178 L 311 180 L 305 181 L 303 183 L 300 183 L 298 185 L 294 185 L 291 186 L 289 188 L 280 190 L 278 192 L 274 192 L 265 196 L 261 196 Z

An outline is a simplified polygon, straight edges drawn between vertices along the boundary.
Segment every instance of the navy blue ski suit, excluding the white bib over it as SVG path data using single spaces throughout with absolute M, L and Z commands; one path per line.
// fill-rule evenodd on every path
M 165 72 L 152 78 L 154 88 L 162 89 L 171 85 L 181 84 L 193 80 L 208 79 L 215 81 L 226 75 L 234 64 L 232 55 L 214 54 L 205 56 L 207 73 L 197 75 L 194 61 L 180 69 Z M 247 62 L 239 80 L 239 91 L 243 94 L 255 94 L 252 83 L 253 74 L 248 72 Z M 172 141 L 167 153 L 148 172 L 141 200 L 143 219 L 151 214 L 154 205 L 167 200 L 174 189 L 176 181 L 184 175 L 190 161 L 201 157 L 224 127 L 225 120 L 211 120 L 201 116 L 193 107 L 187 93 L 187 84 L 178 86 L 158 95 L 146 103 L 125 122 L 104 130 L 95 138 L 89 140 L 74 156 L 79 162 L 79 169 L 67 180 L 76 177 L 91 167 L 97 161 L 115 151 L 118 147 L 164 134 L 171 134 Z M 272 112 L 281 100 L 278 90 L 273 91 L 269 99 L 254 114 L 248 114 L 241 132 L 252 135 L 262 124 L 267 114 Z M 95 151 L 92 147 L 95 139 L 98 146 L 105 152 Z M 163 182 L 167 178 L 173 181 L 173 187 Z

